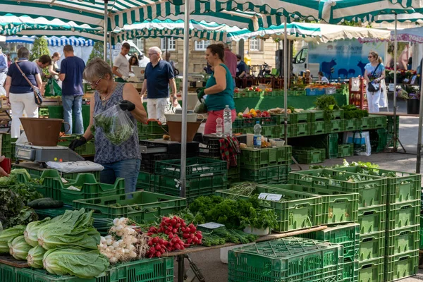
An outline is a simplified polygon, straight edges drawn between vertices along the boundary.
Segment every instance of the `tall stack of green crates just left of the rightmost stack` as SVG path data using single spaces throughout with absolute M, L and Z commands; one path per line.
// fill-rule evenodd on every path
M 341 168 L 342 169 L 342 168 Z M 354 182 L 348 181 L 353 178 Z M 358 192 L 358 223 L 360 224 L 360 281 L 383 281 L 386 227 L 386 178 L 360 175 L 331 169 L 290 173 L 289 181 L 298 185 Z M 365 179 L 363 179 L 365 178 Z M 380 276 L 379 273 L 382 275 Z M 366 279 L 364 279 L 366 277 Z

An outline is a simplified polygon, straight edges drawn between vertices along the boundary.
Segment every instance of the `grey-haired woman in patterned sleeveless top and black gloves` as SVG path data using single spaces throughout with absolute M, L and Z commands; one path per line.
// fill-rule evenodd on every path
M 137 121 L 147 122 L 147 113 L 142 106 L 140 95 L 132 84 L 115 82 L 109 64 L 100 58 L 94 58 L 87 63 L 84 79 L 96 90 L 90 103 L 90 125 L 80 139 L 71 142 L 69 148 L 75 149 L 92 139 L 93 116 L 118 104 L 123 111 L 128 111 L 134 133 L 121 145 L 114 145 L 106 138 L 102 128 L 94 125 L 94 161 L 104 166 L 104 170 L 100 172 L 100 182 L 115 183 L 116 178 L 125 178 L 125 192 L 135 192 L 141 165 Z

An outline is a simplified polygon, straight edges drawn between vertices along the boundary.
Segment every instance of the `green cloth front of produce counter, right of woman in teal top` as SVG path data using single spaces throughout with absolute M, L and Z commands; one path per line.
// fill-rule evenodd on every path
M 332 94 L 332 96 L 336 99 L 338 106 L 348 104 L 347 94 Z M 316 107 L 314 102 L 319 97 L 321 96 L 289 96 L 288 106 L 293 106 L 295 109 L 314 109 Z M 233 100 L 237 113 L 243 112 L 247 107 L 250 109 L 283 108 L 283 96 L 243 97 Z

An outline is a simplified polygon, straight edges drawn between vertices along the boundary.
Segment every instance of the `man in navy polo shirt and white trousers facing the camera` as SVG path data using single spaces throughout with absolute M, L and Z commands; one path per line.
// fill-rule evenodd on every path
M 175 75 L 171 64 L 161 59 L 159 47 L 151 47 L 148 50 L 148 55 L 150 62 L 145 67 L 145 80 L 142 83 L 141 96 L 147 91 L 148 118 L 164 122 L 166 121 L 164 113 L 169 104 L 169 85 L 172 89 L 172 104 L 178 106 Z

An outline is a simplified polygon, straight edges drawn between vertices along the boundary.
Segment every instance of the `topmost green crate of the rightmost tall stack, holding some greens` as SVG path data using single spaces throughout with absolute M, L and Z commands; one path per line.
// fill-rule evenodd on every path
M 333 168 L 337 171 L 348 171 L 351 173 L 377 173 L 387 179 L 388 204 L 398 204 L 411 200 L 421 199 L 422 175 L 419 173 L 408 173 L 391 171 L 381 168 L 367 168 L 362 166 L 348 166 L 345 168 Z M 387 173 L 395 173 L 396 177 L 388 177 Z

